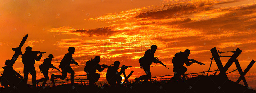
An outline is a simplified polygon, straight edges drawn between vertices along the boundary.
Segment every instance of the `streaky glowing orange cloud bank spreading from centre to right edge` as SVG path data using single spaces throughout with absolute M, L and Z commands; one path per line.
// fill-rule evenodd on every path
M 136 72 L 143 72 L 138 68 L 140 67 L 138 59 L 150 49 L 152 44 L 156 44 L 159 48 L 155 57 L 170 66 L 170 69 L 172 69 L 174 54 L 190 49 L 192 54 L 189 57 L 207 65 L 206 67 L 198 67 L 198 65 L 188 67 L 190 69 L 188 72 L 192 73 L 208 70 L 211 61 L 209 58 L 212 56 L 210 49 L 213 47 L 220 51 L 231 51 L 239 47 L 244 53 L 239 56 L 241 62 L 248 61 L 248 57 L 255 59 L 252 55 L 255 55 L 256 50 L 256 16 L 253 12 L 256 10 L 256 4 L 215 7 L 215 5 L 233 2 L 238 1 L 198 1 L 191 4 L 143 7 L 89 19 L 106 23 L 122 21 L 120 24 L 95 29 L 72 29 L 64 26 L 53 28 L 50 32 L 79 36 L 60 39 L 55 43 L 59 48 L 70 46 L 76 48 L 73 57 L 81 64 L 79 67 L 73 65 L 76 71 L 83 72 L 85 62 L 99 55 L 102 58 L 100 64 L 111 65 L 114 61 L 120 61 L 121 64 L 132 65 L 132 70 Z M 56 60 L 60 61 L 62 56 Z M 228 61 L 225 58 L 221 60 L 223 64 Z M 245 67 L 245 65 L 241 66 Z M 160 67 L 162 66 L 152 67 L 154 69 L 152 76 L 173 74 L 172 71 L 157 72 L 156 68 L 161 69 Z M 144 74 L 136 72 L 132 78 Z

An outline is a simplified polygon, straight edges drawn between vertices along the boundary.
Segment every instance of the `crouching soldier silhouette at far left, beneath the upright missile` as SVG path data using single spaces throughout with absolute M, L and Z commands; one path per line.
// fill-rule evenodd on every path
M 20 86 L 24 86 L 25 83 L 22 80 L 22 76 L 17 73 L 15 70 L 13 70 L 12 68 L 7 68 L 8 65 L 12 65 L 10 64 L 11 60 L 6 60 L 5 61 L 5 67 L 3 67 L 4 71 L 3 74 L 1 74 L 3 77 L 1 77 L 1 85 L 4 86 L 5 88 L 8 87 L 8 85 L 10 87 L 20 87 Z M 20 78 L 19 78 L 20 77 Z

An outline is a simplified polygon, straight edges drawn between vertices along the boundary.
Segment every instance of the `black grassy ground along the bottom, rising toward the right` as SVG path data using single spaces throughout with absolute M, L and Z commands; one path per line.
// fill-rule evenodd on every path
M 231 80 L 221 80 L 218 76 L 193 77 L 182 82 L 126 83 L 122 87 L 110 87 L 99 84 L 90 87 L 87 84 L 62 84 L 53 87 L 1 88 L 1 93 L 256 93 L 255 90 L 237 84 Z

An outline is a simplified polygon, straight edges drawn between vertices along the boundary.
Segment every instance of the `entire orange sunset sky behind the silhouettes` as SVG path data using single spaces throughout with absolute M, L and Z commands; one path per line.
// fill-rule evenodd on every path
M 219 51 L 241 49 L 237 59 L 244 71 L 256 60 L 256 0 L 1 0 L 0 65 L 12 58 L 12 48 L 18 47 L 27 33 L 22 53 L 27 46 L 46 52 L 35 62 L 37 79 L 44 77 L 38 66 L 49 54 L 54 55 L 52 64 L 57 67 L 71 46 L 76 48 L 73 58 L 80 65 L 71 65 L 75 75 L 84 75 L 86 61 L 100 56 L 100 64 L 120 61 L 120 65 L 132 66 L 126 75 L 133 70 L 130 80 L 134 80 L 146 75 L 138 60 L 152 44 L 158 46 L 155 57 L 170 68 L 152 64 L 152 77 L 173 75 L 172 58 L 185 49 L 191 50 L 189 59 L 206 64 L 193 64 L 186 74 L 207 71 L 214 47 Z M 223 65 L 228 59 L 221 58 Z M 214 69 L 218 67 L 213 60 Z M 232 64 L 227 72 L 234 69 Z M 23 76 L 21 55 L 14 70 Z M 99 73 L 101 82 L 106 80 L 106 70 Z M 50 69 L 49 77 L 52 73 L 61 74 Z M 228 74 L 232 81 L 239 76 L 238 71 Z M 245 78 L 256 89 L 255 64 Z M 32 84 L 31 75 L 28 83 Z

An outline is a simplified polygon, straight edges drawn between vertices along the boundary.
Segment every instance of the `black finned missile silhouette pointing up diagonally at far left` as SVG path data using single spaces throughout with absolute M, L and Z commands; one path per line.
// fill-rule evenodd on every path
M 21 47 L 24 45 L 27 38 L 28 38 L 28 34 L 26 34 L 25 37 L 23 37 L 22 41 L 20 42 L 19 47 L 12 48 L 12 50 L 15 51 L 15 53 L 12 56 L 11 62 L 10 62 L 11 66 L 12 66 L 12 69 L 13 69 L 13 65 L 14 65 L 15 61 L 17 60 L 17 58 L 19 57 L 19 55 L 22 55 Z

